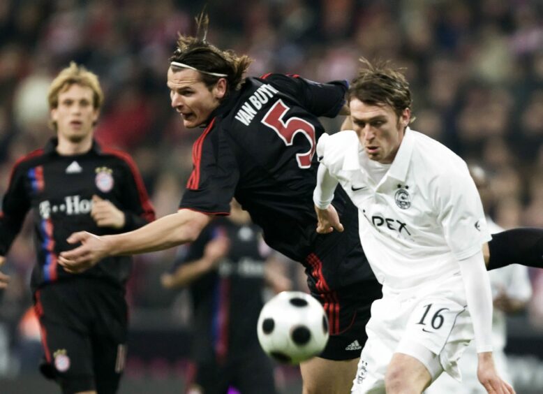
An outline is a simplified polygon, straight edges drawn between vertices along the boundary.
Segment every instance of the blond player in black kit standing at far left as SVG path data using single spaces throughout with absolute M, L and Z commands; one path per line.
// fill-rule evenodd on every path
M 56 137 L 13 167 L 0 214 L 0 262 L 31 210 L 41 370 L 63 393 L 115 393 L 126 357 L 131 258 L 107 257 L 74 275 L 58 256 L 72 247 L 66 238 L 73 231 L 130 231 L 154 220 L 154 210 L 131 157 L 93 140 L 103 101 L 96 75 L 70 64 L 52 82 L 48 100 Z M 3 275 L 0 286 L 7 279 Z

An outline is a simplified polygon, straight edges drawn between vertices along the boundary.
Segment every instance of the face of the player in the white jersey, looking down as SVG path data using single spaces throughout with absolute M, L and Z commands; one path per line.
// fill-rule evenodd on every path
M 389 105 L 369 105 L 359 99 L 349 103 L 352 126 L 371 160 L 392 163 L 409 124 L 410 110 L 401 117 Z

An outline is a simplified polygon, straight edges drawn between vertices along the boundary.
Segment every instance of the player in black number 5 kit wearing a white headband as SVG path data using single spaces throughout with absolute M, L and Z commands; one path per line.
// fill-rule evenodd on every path
M 193 145 L 193 172 L 181 209 L 131 233 L 73 234 L 68 241 L 83 245 L 61 254 L 60 262 L 79 272 L 104 256 L 191 242 L 213 217 L 228 214 L 235 196 L 269 246 L 304 264 L 309 289 L 328 315 L 325 350 L 300 365 L 304 393 L 348 393 L 380 285 L 362 251 L 357 209 L 345 191 L 336 189 L 332 203 L 345 227 L 341 233 L 316 233 L 312 202 L 315 145 L 324 132 L 318 117 L 339 115 L 347 83 L 279 74 L 242 78 L 250 62 L 204 39 L 179 38 L 168 68 L 172 107 L 184 126 L 204 126 Z

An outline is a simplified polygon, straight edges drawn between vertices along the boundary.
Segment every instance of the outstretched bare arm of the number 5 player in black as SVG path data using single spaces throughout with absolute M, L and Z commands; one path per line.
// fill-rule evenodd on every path
M 179 210 L 128 233 L 101 237 L 86 231 L 73 233 L 68 243 L 82 245 L 63 251 L 59 263 L 68 272 L 82 272 L 106 256 L 140 254 L 192 242 L 211 218 L 201 212 Z

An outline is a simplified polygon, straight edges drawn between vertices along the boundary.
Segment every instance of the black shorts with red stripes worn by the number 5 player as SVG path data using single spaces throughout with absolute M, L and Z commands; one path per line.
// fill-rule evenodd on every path
M 328 360 L 359 358 L 368 339 L 366 323 L 371 304 L 382 298 L 382 286 L 371 271 L 358 236 L 354 231 L 345 234 L 343 245 L 322 257 L 317 251 L 306 258 L 309 290 L 328 317 L 330 337 L 320 353 Z

